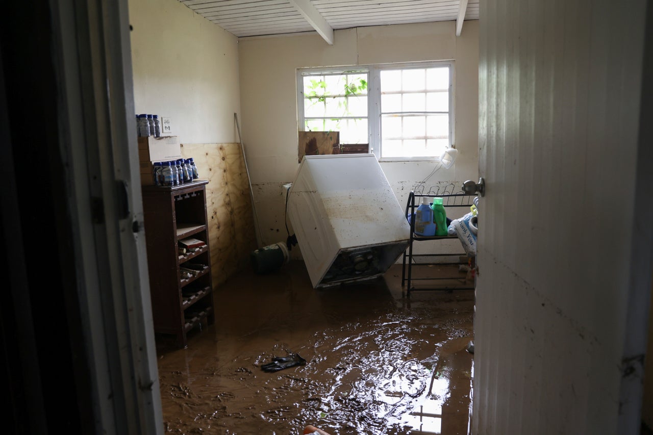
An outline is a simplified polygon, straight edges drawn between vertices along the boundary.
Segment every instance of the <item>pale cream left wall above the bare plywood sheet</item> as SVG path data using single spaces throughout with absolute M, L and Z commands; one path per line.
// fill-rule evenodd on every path
M 129 0 L 136 113 L 170 116 L 182 143 L 238 142 L 237 38 L 177 0 Z

